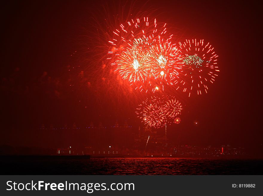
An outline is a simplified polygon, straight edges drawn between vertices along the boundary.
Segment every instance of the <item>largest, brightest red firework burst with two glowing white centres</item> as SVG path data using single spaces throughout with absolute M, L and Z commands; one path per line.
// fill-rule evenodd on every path
M 176 84 L 178 63 L 182 63 L 181 53 L 171 42 L 172 36 L 166 23 L 148 17 L 132 19 L 113 31 L 107 59 L 134 89 L 164 90 L 164 85 Z

